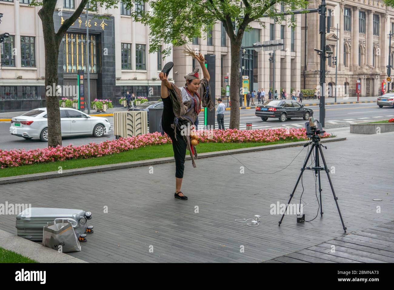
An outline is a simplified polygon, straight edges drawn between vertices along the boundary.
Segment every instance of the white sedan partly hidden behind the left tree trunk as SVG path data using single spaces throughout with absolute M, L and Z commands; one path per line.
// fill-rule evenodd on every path
M 9 133 L 25 139 L 40 138 L 48 142 L 46 108 L 38 108 L 11 119 Z M 61 136 L 90 135 L 102 137 L 110 131 L 106 118 L 89 116 L 79 110 L 60 108 Z

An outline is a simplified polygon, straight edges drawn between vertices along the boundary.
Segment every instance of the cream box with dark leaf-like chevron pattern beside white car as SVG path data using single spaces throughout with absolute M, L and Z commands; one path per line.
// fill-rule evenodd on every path
M 147 111 L 113 113 L 113 132 L 115 138 L 128 138 L 148 133 Z

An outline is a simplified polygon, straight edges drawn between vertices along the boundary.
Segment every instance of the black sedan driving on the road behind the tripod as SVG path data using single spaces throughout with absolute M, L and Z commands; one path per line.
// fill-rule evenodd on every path
M 313 110 L 305 108 L 297 101 L 273 100 L 266 101 L 262 106 L 256 107 L 255 114 L 263 121 L 267 121 L 268 118 L 279 118 L 279 121 L 284 122 L 291 118 L 308 120 L 313 116 Z

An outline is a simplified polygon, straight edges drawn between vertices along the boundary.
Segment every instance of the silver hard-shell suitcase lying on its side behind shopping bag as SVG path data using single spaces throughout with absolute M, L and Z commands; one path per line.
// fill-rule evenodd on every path
M 31 241 L 42 241 L 44 226 L 59 218 L 74 219 L 77 222 L 77 225 L 73 222 L 72 227 L 80 241 L 86 241 L 85 232 L 93 232 L 93 226 L 89 226 L 90 230 L 87 230 L 87 221 L 92 218 L 90 211 L 69 208 L 27 208 L 17 215 L 15 223 L 17 234 Z

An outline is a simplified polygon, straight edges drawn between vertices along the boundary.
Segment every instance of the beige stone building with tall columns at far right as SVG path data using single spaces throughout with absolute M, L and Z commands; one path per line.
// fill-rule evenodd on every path
M 308 8 L 320 3 L 310 1 Z M 355 96 L 357 81 L 361 84 L 360 96 L 380 95 L 387 77 L 388 34 L 394 31 L 394 9 L 379 0 L 327 0 L 326 4 L 326 25 L 330 27 L 326 44 L 333 51 L 326 61 L 326 95 L 335 94 L 331 90 L 335 86 L 332 62 L 337 45 L 337 95 Z M 320 69 L 320 58 L 314 51 L 320 49 L 319 14 L 303 15 L 301 22 L 301 88 L 314 89 L 319 86 L 316 71 Z

